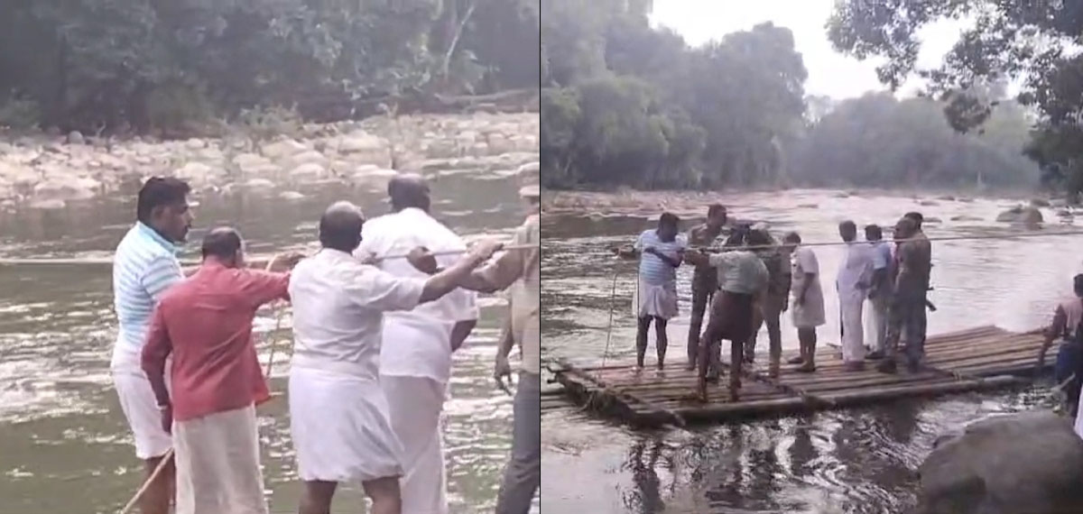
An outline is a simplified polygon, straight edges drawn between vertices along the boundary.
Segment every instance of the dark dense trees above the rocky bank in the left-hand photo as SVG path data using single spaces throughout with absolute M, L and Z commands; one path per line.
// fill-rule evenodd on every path
M 539 0 L 12 0 L 0 124 L 175 124 L 537 83 Z

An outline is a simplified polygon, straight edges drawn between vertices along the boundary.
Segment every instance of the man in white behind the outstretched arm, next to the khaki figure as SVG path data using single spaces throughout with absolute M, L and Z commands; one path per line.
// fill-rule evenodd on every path
M 357 256 L 402 278 L 428 278 L 402 255 L 423 247 L 433 252 L 461 251 L 466 243 L 429 215 L 429 186 L 416 174 L 388 183 L 392 213 L 365 223 Z M 449 267 L 461 254 L 436 255 Z M 452 374 L 452 352 L 478 322 L 475 293 L 456 289 L 412 311 L 384 315 L 380 348 L 380 387 L 391 408 L 391 427 L 403 445 L 403 512 L 446 514 L 446 478 L 440 433 L 441 412 Z

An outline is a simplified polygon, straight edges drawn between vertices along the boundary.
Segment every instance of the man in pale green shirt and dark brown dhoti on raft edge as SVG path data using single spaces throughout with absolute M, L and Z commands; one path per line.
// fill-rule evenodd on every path
M 726 241 L 727 247 L 745 245 L 745 230 L 735 230 Z M 753 317 L 757 301 L 767 294 L 770 278 L 767 266 L 755 253 L 734 248 L 707 255 L 693 250 L 686 254 L 694 265 L 718 268 L 719 293 L 710 306 L 710 320 L 700 343 L 700 397 L 707 399 L 707 381 L 717 379 L 720 371 L 719 354 L 723 339 L 730 341 L 730 398 L 736 400 L 741 390 L 741 361 L 744 344 L 752 337 Z

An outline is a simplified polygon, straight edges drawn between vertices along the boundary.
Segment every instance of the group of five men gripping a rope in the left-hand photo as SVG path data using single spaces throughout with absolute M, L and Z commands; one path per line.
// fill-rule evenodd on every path
M 268 513 L 256 406 L 271 395 L 252 321 L 275 301 L 292 305 L 299 512 L 329 514 L 338 484 L 360 483 L 374 514 L 446 514 L 441 411 L 452 354 L 477 321 L 475 291 L 504 289 L 510 312 L 494 375 L 511 374 L 514 345 L 522 364 L 496 512 L 529 512 L 540 482 L 540 195 L 536 172 L 521 174 L 530 212 L 503 253 L 494 240 L 468 249 L 432 218 L 426 182 L 401 174 L 388 185 L 392 213 L 366 221 L 336 202 L 319 220 L 318 252 L 276 255 L 265 271 L 246 262 L 231 227 L 210 229 L 201 264 L 182 269 L 190 187 L 146 181 L 114 258 L 110 365 L 147 479 L 165 470 L 143 514 L 167 514 L 174 498 L 178 514 Z

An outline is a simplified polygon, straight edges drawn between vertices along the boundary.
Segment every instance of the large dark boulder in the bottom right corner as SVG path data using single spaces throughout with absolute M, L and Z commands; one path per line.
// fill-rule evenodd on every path
M 918 473 L 915 514 L 1083 513 L 1083 439 L 1049 411 L 942 436 Z

